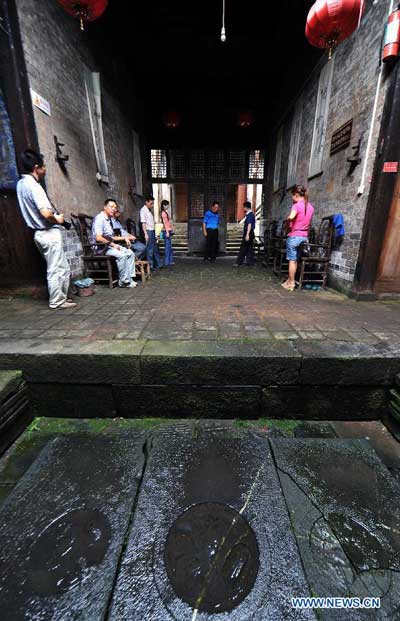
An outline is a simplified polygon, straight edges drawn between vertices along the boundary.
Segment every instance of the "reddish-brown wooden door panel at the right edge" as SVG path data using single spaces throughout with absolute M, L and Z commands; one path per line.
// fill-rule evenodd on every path
M 397 175 L 379 260 L 377 293 L 400 293 L 400 173 Z

